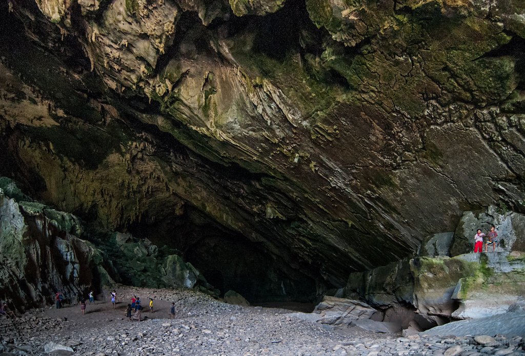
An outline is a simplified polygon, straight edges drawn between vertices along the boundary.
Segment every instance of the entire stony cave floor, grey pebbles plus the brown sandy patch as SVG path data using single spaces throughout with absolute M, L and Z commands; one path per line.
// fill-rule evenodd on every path
M 153 313 L 128 321 L 124 308 L 131 296 L 143 304 L 154 298 Z M 124 302 L 126 301 L 126 302 Z M 175 319 L 169 319 L 171 303 Z M 286 315 L 291 310 L 225 304 L 192 290 L 122 287 L 117 308 L 110 302 L 61 309 L 30 310 L 9 321 L 0 319 L 0 356 L 40 355 L 45 345 L 69 346 L 78 355 L 444 355 L 524 356 L 521 337 L 432 337 L 375 333 L 358 327 L 315 324 Z M 69 351 L 47 354 L 70 355 Z

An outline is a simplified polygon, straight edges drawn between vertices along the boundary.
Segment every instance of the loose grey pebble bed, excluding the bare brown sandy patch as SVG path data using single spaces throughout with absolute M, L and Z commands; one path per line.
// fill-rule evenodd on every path
M 410 335 L 392 338 L 368 331 L 359 335 L 344 329 L 327 330 L 316 323 L 283 316 L 285 311 L 279 309 L 232 306 L 202 296 L 198 296 L 197 303 L 193 296 L 192 293 L 178 295 L 190 306 L 192 315 L 187 316 L 184 303 L 177 304 L 181 313 L 170 322 L 150 318 L 134 323 L 115 320 L 102 322 L 97 330 L 87 326 L 70 329 L 66 320 L 43 318 L 40 312 L 35 312 L 16 321 L 19 330 L 24 330 L 19 337 L 12 330 L 2 328 L 0 320 L 0 335 L 4 340 L 13 340 L 0 344 L 0 354 L 14 351 L 16 340 L 18 350 L 27 350 L 31 356 L 40 355 L 41 345 L 56 340 L 74 346 L 79 356 L 525 356 L 525 344 L 520 337 Z M 165 297 L 172 296 L 166 292 Z M 51 329 L 60 332 L 51 334 Z M 55 339 L 57 335 L 60 336 Z

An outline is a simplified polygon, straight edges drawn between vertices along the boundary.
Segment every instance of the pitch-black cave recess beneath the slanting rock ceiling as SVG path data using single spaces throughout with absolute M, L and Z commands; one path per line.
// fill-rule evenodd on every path
M 221 295 L 232 290 L 255 305 L 316 301 L 320 281 L 308 271 L 293 268 L 294 261 L 272 254 L 262 242 L 250 241 L 191 207 L 154 224 L 140 221 L 130 232 L 150 239 L 160 250 L 174 250 Z

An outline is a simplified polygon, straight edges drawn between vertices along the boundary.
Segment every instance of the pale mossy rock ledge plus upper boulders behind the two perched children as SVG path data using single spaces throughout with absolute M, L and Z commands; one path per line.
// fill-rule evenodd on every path
M 372 319 L 395 321 L 417 331 L 450 320 L 505 313 L 512 305 L 523 303 L 521 231 L 525 224 L 523 214 L 498 210 L 490 206 L 485 211 L 465 212 L 455 233 L 426 238 L 421 256 L 352 273 L 337 294 L 379 309 L 381 313 Z M 496 251 L 472 253 L 475 231 L 490 226 L 498 231 Z M 461 254 L 457 253 L 459 246 Z

